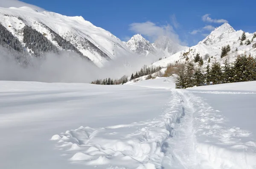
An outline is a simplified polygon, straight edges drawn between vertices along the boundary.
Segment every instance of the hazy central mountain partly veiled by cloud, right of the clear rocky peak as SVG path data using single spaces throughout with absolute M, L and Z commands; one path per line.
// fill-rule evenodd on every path
M 182 51 L 188 47 L 181 46 L 177 42 L 174 42 L 170 37 L 161 36 L 154 42 L 154 47 L 158 52 L 162 52 L 163 56 L 170 56 L 178 51 Z

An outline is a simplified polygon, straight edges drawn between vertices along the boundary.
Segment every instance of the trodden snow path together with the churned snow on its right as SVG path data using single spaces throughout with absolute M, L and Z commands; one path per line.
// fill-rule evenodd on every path
M 184 118 L 173 125 L 173 137 L 163 161 L 174 169 L 255 169 L 256 142 L 246 141 L 252 133 L 227 127 L 227 118 L 218 114 L 201 97 L 178 90 L 183 99 Z M 216 94 L 216 93 L 213 93 Z

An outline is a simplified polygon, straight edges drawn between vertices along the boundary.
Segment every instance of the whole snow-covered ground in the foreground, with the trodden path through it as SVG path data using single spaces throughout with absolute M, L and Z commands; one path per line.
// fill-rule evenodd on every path
M 2 169 L 255 169 L 256 82 L 0 81 Z

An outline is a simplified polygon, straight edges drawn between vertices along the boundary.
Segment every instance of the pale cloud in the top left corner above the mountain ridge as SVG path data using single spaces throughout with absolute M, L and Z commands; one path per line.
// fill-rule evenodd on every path
M 3 8 L 10 8 L 10 7 L 20 8 L 20 7 L 23 7 L 23 6 L 28 6 L 28 7 L 31 7 L 31 8 L 35 8 L 38 11 L 46 11 L 43 8 L 40 8 L 40 7 L 35 6 L 35 5 L 31 5 L 29 3 L 24 3 L 24 2 L 21 2 L 19 0 L 0 0 L 0 7 L 3 7 Z

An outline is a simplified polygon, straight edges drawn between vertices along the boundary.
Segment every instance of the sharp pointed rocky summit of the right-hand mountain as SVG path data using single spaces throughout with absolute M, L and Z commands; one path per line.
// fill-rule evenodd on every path
M 228 23 L 224 23 L 218 28 L 215 28 L 204 40 L 198 44 L 212 45 L 218 42 L 228 39 L 236 30 Z

